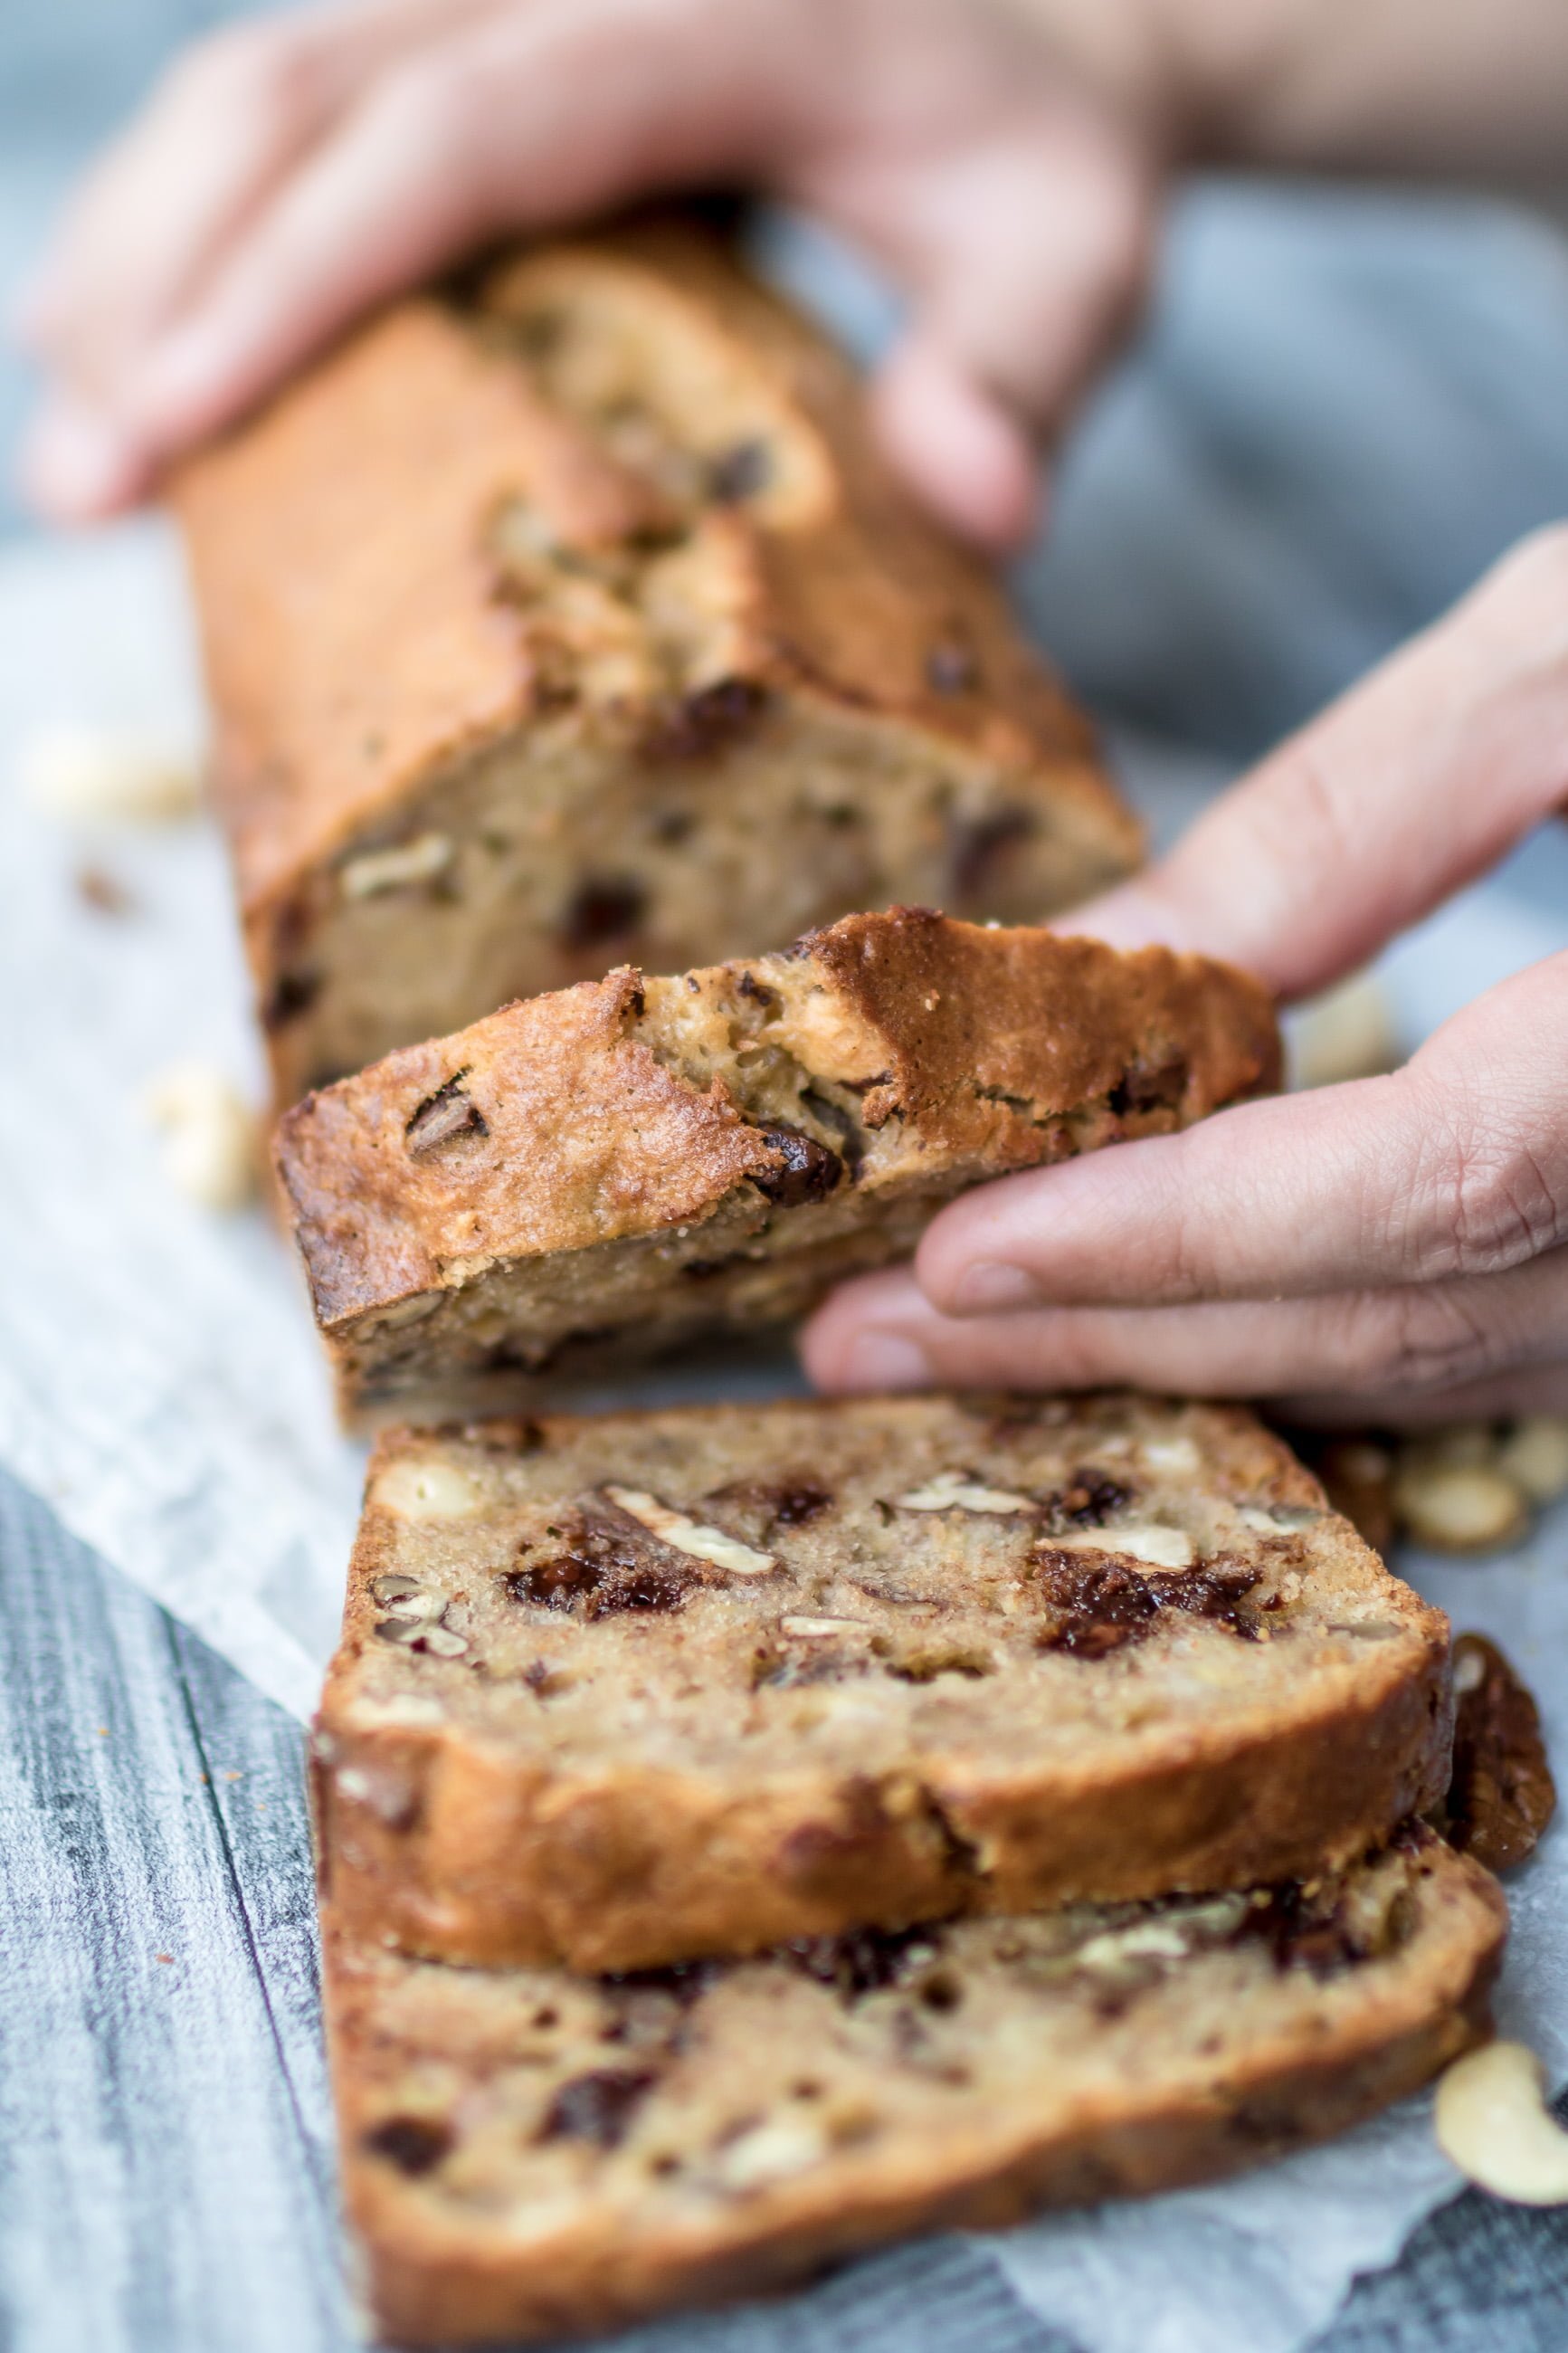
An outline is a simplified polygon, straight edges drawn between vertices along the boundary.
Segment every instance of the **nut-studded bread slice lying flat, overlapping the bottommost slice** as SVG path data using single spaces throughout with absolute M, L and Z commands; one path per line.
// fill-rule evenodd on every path
M 632 1969 L 1314 1873 L 1432 1805 L 1448 1624 L 1251 1414 L 879 1398 L 388 1433 L 324 1906 Z

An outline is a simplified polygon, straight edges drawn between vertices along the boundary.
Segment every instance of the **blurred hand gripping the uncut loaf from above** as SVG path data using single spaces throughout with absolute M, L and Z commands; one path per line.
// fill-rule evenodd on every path
M 1074 9 L 1060 12 L 1067 21 Z M 348 320 L 503 231 L 741 181 L 912 301 L 875 388 L 957 529 L 1032 522 L 1145 282 L 1159 139 L 992 0 L 336 0 L 190 49 L 78 195 L 21 332 L 24 487 L 113 513 Z

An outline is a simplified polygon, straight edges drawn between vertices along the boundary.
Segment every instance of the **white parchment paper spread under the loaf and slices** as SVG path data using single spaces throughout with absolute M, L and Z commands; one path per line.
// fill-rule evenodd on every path
M 179 572 L 139 525 L 0 560 L 0 1459 L 103 1558 L 263 1692 L 308 1715 L 336 1633 L 360 1452 L 334 1433 L 303 1294 L 259 1212 L 214 1219 L 167 1184 L 146 1082 L 200 1056 L 261 1096 L 223 854 L 200 821 L 85 838 L 26 805 L 19 751 L 87 722 L 193 741 Z M 1133 760 L 1171 828 L 1208 776 Z M 85 868 L 125 913 L 92 908 Z M 1568 944 L 1502 885 L 1387 960 L 1408 1040 Z M 788 1379 L 757 1367 L 743 1386 Z M 644 1384 L 670 1393 L 670 1381 Z M 1493 1633 L 1568 1758 L 1568 1511 L 1486 1567 L 1408 1562 Z M 1512 1880 L 1505 2031 L 1568 2075 L 1568 1845 Z M 1359 2271 L 1394 2259 L 1458 2181 L 1427 2101 L 1213 2191 L 1070 2214 L 990 2240 L 1088 2353 L 1295 2353 Z

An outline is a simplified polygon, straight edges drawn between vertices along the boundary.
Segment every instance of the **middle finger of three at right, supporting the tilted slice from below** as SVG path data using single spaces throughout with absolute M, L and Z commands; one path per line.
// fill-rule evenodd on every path
M 1568 953 L 1467 1005 L 1392 1078 L 950 1202 L 917 1268 L 945 1315 L 1293 1297 L 1500 1273 L 1568 1242 Z

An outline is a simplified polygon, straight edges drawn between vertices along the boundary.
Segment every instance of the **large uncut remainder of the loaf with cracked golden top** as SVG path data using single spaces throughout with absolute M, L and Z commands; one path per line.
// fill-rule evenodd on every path
M 853 372 L 693 226 L 397 304 L 176 508 L 280 1106 L 621 958 L 1039 920 L 1138 856 Z

